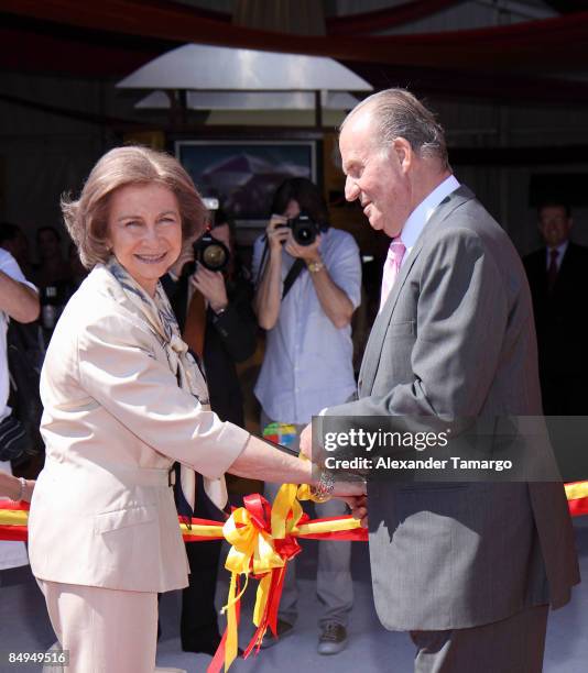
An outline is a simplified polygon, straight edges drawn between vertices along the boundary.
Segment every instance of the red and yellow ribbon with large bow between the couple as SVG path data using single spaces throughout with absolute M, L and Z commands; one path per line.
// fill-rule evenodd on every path
M 569 512 L 573 517 L 588 515 L 588 481 L 566 484 Z M 287 562 L 300 553 L 298 538 L 315 540 L 367 541 L 368 531 L 350 516 L 309 520 L 298 498 L 305 494 L 294 484 L 284 484 L 273 506 L 260 495 L 243 498 L 243 507 L 235 509 L 225 523 L 208 519 L 179 518 L 186 542 L 226 539 L 231 548 L 225 567 L 231 573 L 227 605 L 227 629 L 208 673 L 229 669 L 238 652 L 240 599 L 250 577 L 259 580 L 253 609 L 257 627 L 243 654 L 259 651 L 268 628 L 276 636 L 277 608 L 282 595 Z M 28 503 L 0 500 L 0 540 L 26 541 Z M 244 583 L 241 588 L 241 575 Z

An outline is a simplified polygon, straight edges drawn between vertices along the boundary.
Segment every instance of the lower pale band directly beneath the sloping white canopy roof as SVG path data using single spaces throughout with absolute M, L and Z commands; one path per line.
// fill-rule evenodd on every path
M 327 110 L 351 110 L 359 99 L 345 91 L 322 91 L 320 104 Z M 165 110 L 171 106 L 165 91 L 153 91 L 135 108 Z M 188 110 L 314 110 L 312 91 L 187 91 Z

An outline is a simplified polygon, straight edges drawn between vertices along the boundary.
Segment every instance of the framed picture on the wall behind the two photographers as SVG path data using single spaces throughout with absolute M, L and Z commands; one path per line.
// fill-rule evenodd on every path
M 203 197 L 218 198 L 238 228 L 259 230 L 288 177 L 317 179 L 317 142 L 176 141 L 175 154 Z

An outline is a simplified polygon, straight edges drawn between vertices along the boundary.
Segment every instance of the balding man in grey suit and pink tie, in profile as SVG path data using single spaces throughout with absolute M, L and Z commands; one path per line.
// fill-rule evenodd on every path
M 359 399 L 325 413 L 541 415 L 522 264 L 451 174 L 433 114 L 381 91 L 350 112 L 339 146 L 346 198 L 392 242 Z M 308 428 L 301 445 L 312 453 Z M 368 501 L 375 607 L 411 632 L 416 671 L 542 670 L 548 604 L 578 582 L 560 484 L 373 481 Z

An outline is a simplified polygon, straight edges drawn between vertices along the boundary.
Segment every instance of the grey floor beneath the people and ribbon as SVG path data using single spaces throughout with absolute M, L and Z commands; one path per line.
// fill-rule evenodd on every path
M 576 533 L 582 575 L 588 578 L 588 517 L 576 520 Z M 301 577 L 300 618 L 293 635 L 274 648 L 236 661 L 231 671 L 298 673 L 301 670 L 320 673 L 410 673 L 413 648 L 404 633 L 385 631 L 373 610 L 367 547 L 353 547 L 355 609 L 350 624 L 347 650 L 336 657 L 320 657 L 316 652 L 318 603 L 312 576 L 316 561 L 316 543 L 307 542 L 298 556 Z M 225 577 L 226 572 L 221 571 Z M 221 605 L 228 584 L 219 584 L 217 598 Z M 246 644 L 252 628 L 251 596 L 242 614 L 241 644 Z M 181 651 L 178 638 L 179 595 L 171 593 L 161 604 L 163 628 L 157 663 L 185 669 L 189 673 L 204 672 L 209 657 Z M 13 650 L 44 650 L 54 641 L 41 593 L 28 569 L 0 573 L 0 652 Z M 570 605 L 553 613 L 549 618 L 545 673 L 586 673 L 588 671 L 588 580 L 577 587 Z M 0 666 L 0 673 L 39 671 L 39 666 Z M 133 672 L 129 672 L 133 673 Z M 498 672 L 497 672 L 498 673 Z

